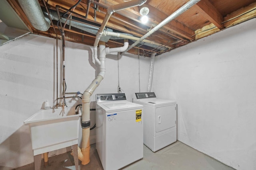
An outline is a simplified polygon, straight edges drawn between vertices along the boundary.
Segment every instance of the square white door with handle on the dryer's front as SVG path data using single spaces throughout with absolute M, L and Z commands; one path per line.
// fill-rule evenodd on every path
M 175 105 L 156 107 L 156 132 L 164 131 L 176 125 Z

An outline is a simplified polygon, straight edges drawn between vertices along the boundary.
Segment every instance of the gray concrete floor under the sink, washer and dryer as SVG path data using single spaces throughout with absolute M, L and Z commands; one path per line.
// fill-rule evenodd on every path
M 91 145 L 90 163 L 81 165 L 80 170 L 103 170 L 95 144 Z M 28 164 L 16 170 L 34 170 L 34 164 Z M 75 170 L 74 158 L 70 152 L 52 156 L 48 166 L 42 160 L 41 170 Z M 177 141 L 157 152 L 152 152 L 144 145 L 144 157 L 122 170 L 234 170 L 229 166 L 198 152 L 195 149 Z

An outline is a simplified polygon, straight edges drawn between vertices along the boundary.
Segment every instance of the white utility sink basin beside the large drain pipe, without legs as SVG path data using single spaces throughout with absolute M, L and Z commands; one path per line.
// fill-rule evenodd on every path
M 65 107 L 42 109 L 26 119 L 34 156 L 78 144 L 80 116 L 74 107 Z

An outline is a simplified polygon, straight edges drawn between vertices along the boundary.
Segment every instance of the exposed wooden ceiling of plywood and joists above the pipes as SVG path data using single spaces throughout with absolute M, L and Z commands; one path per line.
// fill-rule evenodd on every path
M 52 20 L 50 29 L 48 31 L 39 31 L 32 26 L 31 21 L 28 20 L 17 0 L 7 1 L 30 28 L 32 33 L 62 39 L 57 27 L 57 20 L 50 18 Z M 82 23 L 100 27 L 107 8 L 114 4 L 124 3 L 125 1 L 128 0 L 81 0 L 76 8 L 72 9 L 71 16 L 75 18 L 74 20 L 79 19 Z M 56 11 L 57 6 L 61 16 L 67 11 L 64 8 L 70 9 L 78 0 L 39 0 L 38 2 L 43 11 Z M 187 2 L 188 0 L 147 0 L 144 5 L 150 10 L 148 23 L 141 23 L 140 7 L 137 6 L 113 13 L 106 28 L 113 32 L 142 37 Z M 90 4 L 89 8 L 88 4 Z M 86 16 L 87 9 L 89 12 Z M 146 57 L 150 57 L 152 53 L 160 55 L 255 17 L 256 0 L 201 0 L 192 8 L 150 35 L 147 39 L 154 42 L 155 45 L 140 43 L 128 52 Z M 94 44 L 95 35 L 93 33 L 86 31 L 86 29 L 82 30 L 74 27 L 72 24 L 70 25 L 69 21 L 64 32 L 67 41 L 91 46 Z M 106 46 L 120 47 L 123 43 L 124 40 L 122 39 L 109 39 Z M 129 45 L 132 43 L 134 41 L 129 40 Z

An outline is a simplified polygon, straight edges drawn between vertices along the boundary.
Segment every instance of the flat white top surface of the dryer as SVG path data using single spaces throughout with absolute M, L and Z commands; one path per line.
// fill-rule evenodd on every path
M 163 106 L 168 104 L 176 104 L 176 101 L 173 100 L 166 100 L 166 99 L 158 99 L 158 98 L 151 98 L 151 99 L 140 99 L 134 100 L 134 102 L 142 105 L 148 106 Z

